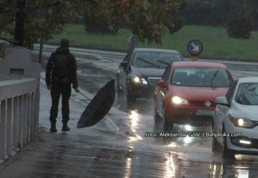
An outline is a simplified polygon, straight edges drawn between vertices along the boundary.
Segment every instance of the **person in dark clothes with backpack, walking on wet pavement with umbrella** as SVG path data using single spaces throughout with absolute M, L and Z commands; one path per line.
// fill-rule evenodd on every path
M 60 75 L 60 73 L 62 73 L 62 75 Z M 46 84 L 47 88 L 50 89 L 52 98 L 52 106 L 50 110 L 50 132 L 57 132 L 56 119 L 58 116 L 60 95 L 62 95 L 62 131 L 69 131 L 70 128 L 67 126 L 67 123 L 69 121 L 71 84 L 72 88 L 76 92 L 79 92 L 79 89 L 76 75 L 76 61 L 69 51 L 69 41 L 66 39 L 61 40 L 61 46 L 51 54 L 48 60 L 46 67 Z

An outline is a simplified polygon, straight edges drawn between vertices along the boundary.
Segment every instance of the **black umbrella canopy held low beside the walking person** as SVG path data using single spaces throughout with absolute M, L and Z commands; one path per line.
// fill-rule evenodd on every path
M 103 119 L 111 109 L 116 98 L 115 80 L 102 87 L 87 105 L 77 123 L 77 128 L 90 127 Z

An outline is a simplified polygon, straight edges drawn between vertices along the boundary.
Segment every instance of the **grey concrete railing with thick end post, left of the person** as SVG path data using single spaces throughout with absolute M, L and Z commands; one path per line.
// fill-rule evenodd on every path
M 0 162 L 35 138 L 39 119 L 40 64 L 31 51 L 6 48 L 0 60 Z

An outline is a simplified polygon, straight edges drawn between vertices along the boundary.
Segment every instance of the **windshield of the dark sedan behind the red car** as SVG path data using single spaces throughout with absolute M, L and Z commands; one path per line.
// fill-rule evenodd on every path
M 182 61 L 179 54 L 168 52 L 137 52 L 132 65 L 136 67 L 167 67 L 173 61 Z

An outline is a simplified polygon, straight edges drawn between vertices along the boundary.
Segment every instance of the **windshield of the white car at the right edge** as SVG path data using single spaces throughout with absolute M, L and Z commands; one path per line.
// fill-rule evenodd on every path
M 258 83 L 240 83 L 235 101 L 244 105 L 258 105 Z

